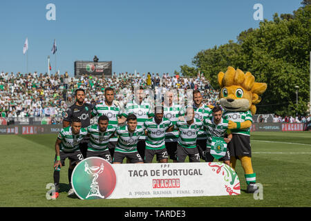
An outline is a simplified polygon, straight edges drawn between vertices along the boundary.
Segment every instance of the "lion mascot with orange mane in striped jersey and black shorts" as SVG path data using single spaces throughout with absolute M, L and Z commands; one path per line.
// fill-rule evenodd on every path
M 256 173 L 252 168 L 252 150 L 250 146 L 250 126 L 256 106 L 261 102 L 259 95 L 267 89 L 267 84 L 255 82 L 251 73 L 243 73 L 228 67 L 226 73 L 218 73 L 220 85 L 220 105 L 225 109 L 223 118 L 229 120 L 228 128 L 232 131 L 232 141 L 228 148 L 230 163 L 235 170 L 236 160 L 241 160 L 247 183 L 247 193 L 254 193 Z

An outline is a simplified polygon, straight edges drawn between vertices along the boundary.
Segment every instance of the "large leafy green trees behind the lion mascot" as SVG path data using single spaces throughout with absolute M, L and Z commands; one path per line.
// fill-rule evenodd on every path
M 192 60 L 196 68 L 180 66 L 182 73 L 189 76 L 191 71 L 200 70 L 214 88 L 219 88 L 217 74 L 220 71 L 227 70 L 227 66 L 240 68 L 252 73 L 256 81 L 267 83 L 257 113 L 305 114 L 310 91 L 310 1 L 303 1 L 304 7 L 293 15 L 275 14 L 273 21 L 265 19 L 258 28 L 241 32 L 237 42 L 201 50 Z M 299 86 L 298 106 L 296 85 Z

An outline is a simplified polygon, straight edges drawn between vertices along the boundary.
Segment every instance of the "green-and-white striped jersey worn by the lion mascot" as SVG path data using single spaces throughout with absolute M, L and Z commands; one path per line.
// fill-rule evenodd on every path
M 245 122 L 247 120 L 250 120 L 253 122 L 252 119 L 252 113 L 250 111 L 224 111 L 223 112 L 223 119 L 227 119 L 228 121 L 231 120 L 232 122 Z M 250 129 L 245 128 L 245 129 L 232 129 L 232 134 L 241 134 L 241 135 L 250 135 Z

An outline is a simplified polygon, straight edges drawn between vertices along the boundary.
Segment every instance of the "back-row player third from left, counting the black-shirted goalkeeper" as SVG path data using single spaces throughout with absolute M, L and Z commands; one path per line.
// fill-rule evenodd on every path
M 124 117 L 128 117 L 129 114 L 134 114 L 137 117 L 138 126 L 143 126 L 144 122 L 149 119 L 150 104 L 144 102 L 144 88 L 135 88 L 135 99 L 129 102 L 125 106 Z M 144 149 L 146 148 L 145 136 L 140 136 L 137 150 L 140 156 L 144 159 Z

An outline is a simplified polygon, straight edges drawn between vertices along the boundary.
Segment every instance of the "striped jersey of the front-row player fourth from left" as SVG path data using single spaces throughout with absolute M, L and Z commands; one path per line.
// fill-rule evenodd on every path
M 154 117 L 144 122 L 144 129 L 147 130 L 146 148 L 160 150 L 165 148 L 165 134 L 167 129 L 173 126 L 171 121 L 163 118 L 160 124 L 157 124 Z

